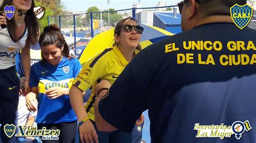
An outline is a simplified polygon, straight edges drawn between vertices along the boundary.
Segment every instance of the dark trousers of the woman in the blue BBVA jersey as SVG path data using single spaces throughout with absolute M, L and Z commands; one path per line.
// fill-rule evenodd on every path
M 37 124 L 38 130 L 42 130 L 43 127 L 47 130 L 60 130 L 59 140 L 42 140 L 43 142 L 75 142 L 77 120 L 57 124 Z

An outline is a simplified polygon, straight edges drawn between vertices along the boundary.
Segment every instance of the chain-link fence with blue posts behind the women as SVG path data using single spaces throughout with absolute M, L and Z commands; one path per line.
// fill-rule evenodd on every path
M 177 5 L 51 16 L 48 17 L 48 24 L 57 24 L 69 47 L 74 46 L 76 55 L 79 55 L 95 35 L 109 30 L 127 17 L 133 17 L 146 26 L 161 28 L 162 32 L 181 32 L 181 15 Z

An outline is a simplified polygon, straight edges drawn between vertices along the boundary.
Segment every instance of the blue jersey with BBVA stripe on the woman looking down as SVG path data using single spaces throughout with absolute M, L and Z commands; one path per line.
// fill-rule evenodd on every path
M 41 62 L 37 62 L 31 67 L 30 87 L 38 87 L 37 123 L 53 124 L 77 120 L 70 105 L 69 95 L 49 99 L 44 92 L 55 86 L 71 88 L 72 81 L 81 68 L 77 59 L 68 59 L 64 56 L 57 66 L 47 62 L 43 66 Z

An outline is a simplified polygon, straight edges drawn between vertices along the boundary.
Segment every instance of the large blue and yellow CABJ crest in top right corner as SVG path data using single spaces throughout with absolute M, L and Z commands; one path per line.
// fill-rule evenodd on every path
M 253 14 L 253 8 L 248 4 L 235 4 L 230 8 L 230 13 L 234 24 L 242 30 L 250 23 Z

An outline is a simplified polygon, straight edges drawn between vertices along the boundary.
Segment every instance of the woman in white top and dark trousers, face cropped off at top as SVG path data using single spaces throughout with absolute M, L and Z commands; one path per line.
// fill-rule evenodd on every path
M 10 20 L 4 15 L 6 5 L 13 5 L 16 8 L 16 13 L 8 6 L 7 9 L 5 8 L 8 16 L 14 15 Z M 39 26 L 35 15 L 19 15 L 19 13 L 33 11 L 34 7 L 33 0 L 4 0 L 0 8 L 0 124 L 2 124 L 3 142 L 10 140 L 4 133 L 4 125 L 15 125 L 15 112 L 19 98 L 19 78 L 15 70 L 15 55 L 20 50 L 26 80 L 25 95 L 29 91 L 30 45 L 36 43 Z

